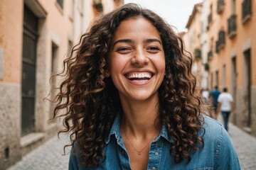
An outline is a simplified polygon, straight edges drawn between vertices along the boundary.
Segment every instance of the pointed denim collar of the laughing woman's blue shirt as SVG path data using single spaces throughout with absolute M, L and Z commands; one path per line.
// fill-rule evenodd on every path
M 120 132 L 120 114 L 117 113 L 116 118 L 114 119 L 114 123 L 112 125 L 112 128 L 110 130 L 110 133 L 107 137 L 105 137 L 105 143 L 108 144 L 110 142 L 111 135 L 114 135 L 117 140 L 119 140 L 121 137 Z M 165 125 L 162 125 L 161 131 L 158 137 L 156 137 L 156 140 L 159 140 L 160 137 L 164 137 L 167 141 L 171 142 L 171 137 L 168 135 L 167 128 Z

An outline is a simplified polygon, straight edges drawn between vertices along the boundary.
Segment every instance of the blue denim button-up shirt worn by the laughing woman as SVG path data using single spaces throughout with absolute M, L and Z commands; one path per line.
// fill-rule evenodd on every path
M 203 127 L 206 132 L 203 135 L 203 130 L 201 130 L 198 135 L 203 135 L 204 147 L 191 155 L 191 162 L 183 160 L 181 163 L 174 164 L 174 158 L 169 152 L 171 137 L 163 125 L 159 136 L 151 142 L 147 169 L 240 169 L 233 143 L 223 125 L 207 116 L 203 116 L 203 118 L 205 120 Z M 75 149 L 72 148 L 69 169 L 131 169 L 119 127 L 120 116 L 117 115 L 110 134 L 105 139 L 105 161 L 99 167 L 82 166 L 80 164 L 81 157 L 76 155 Z

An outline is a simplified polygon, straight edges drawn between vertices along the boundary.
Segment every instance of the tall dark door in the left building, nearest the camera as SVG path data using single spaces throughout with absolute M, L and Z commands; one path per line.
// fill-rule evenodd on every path
M 23 15 L 21 135 L 26 135 L 35 130 L 38 18 L 26 5 Z

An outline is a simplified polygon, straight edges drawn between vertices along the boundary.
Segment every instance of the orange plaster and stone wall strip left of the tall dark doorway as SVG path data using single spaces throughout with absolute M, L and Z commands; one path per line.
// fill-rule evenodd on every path
M 0 2 L 0 169 L 21 159 L 22 5 L 18 0 Z

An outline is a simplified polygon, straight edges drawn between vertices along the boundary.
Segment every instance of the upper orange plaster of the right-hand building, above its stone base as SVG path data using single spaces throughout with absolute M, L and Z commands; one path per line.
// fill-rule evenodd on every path
M 222 72 L 223 64 L 225 64 L 225 86 L 231 86 L 231 60 L 232 60 L 232 51 L 236 52 L 236 62 L 237 62 L 237 86 L 242 87 L 243 85 L 243 72 L 244 72 L 244 55 L 242 45 L 250 39 L 251 46 L 251 68 L 252 68 L 252 85 L 256 85 L 256 8 L 255 1 L 252 1 L 252 18 L 247 23 L 242 24 L 242 0 L 236 0 L 235 14 L 236 26 L 237 26 L 237 35 L 230 39 L 228 37 L 228 18 L 232 14 L 231 10 L 231 1 L 225 1 L 225 8 L 223 13 L 218 14 L 217 11 L 217 1 L 211 1 L 213 5 L 213 23 L 208 30 L 208 42 L 210 38 L 213 38 L 213 58 L 210 60 L 210 72 L 219 71 L 219 85 L 223 87 L 222 84 Z M 210 8 L 210 7 L 209 7 Z M 220 29 L 225 30 L 225 47 L 220 50 L 218 54 L 215 53 L 215 42 L 218 40 L 218 31 Z M 215 77 L 214 77 L 215 79 Z M 215 82 L 215 81 L 214 81 Z M 215 85 L 215 83 L 213 83 Z

